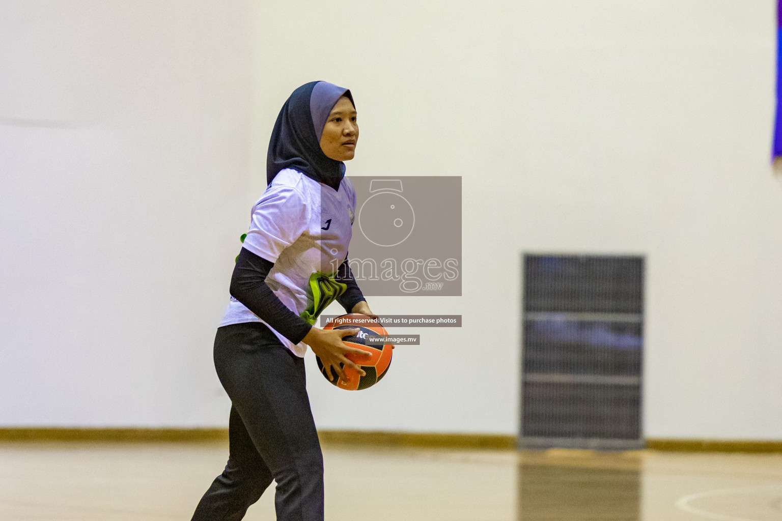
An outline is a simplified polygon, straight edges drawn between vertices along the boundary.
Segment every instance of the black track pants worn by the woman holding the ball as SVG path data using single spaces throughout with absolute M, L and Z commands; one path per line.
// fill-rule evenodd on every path
M 217 329 L 214 366 L 231 398 L 228 465 L 193 521 L 242 519 L 277 482 L 278 521 L 323 520 L 323 455 L 304 380 L 304 360 L 262 323 Z

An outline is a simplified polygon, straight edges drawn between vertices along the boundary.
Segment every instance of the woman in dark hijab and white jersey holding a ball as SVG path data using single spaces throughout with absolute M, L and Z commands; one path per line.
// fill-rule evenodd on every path
M 343 161 L 358 140 L 353 95 L 325 81 L 293 91 L 274 123 L 267 183 L 231 277 L 214 365 L 231 398 L 228 465 L 194 521 L 242 519 L 272 480 L 278 521 L 322 521 L 323 456 L 307 398 L 309 346 L 332 377 L 361 367 L 343 343 L 357 330 L 321 330 L 318 314 L 338 301 L 372 316 L 347 264 L 356 210 Z

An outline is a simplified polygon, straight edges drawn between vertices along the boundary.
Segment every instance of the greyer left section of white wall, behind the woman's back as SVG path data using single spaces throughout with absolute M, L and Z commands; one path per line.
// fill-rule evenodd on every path
M 210 350 L 246 226 L 247 12 L 3 2 L 0 423 L 224 419 Z

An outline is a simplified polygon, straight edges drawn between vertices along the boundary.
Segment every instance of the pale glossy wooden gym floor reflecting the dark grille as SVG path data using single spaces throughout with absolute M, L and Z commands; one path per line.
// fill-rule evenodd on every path
M 224 466 L 213 444 L 0 444 L 2 521 L 173 521 Z M 326 519 L 782 520 L 782 455 L 325 447 Z M 270 489 L 245 519 L 274 519 Z

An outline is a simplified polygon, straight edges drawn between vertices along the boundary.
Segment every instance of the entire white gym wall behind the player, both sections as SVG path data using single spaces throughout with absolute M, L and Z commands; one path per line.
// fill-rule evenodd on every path
M 371 305 L 464 327 L 361 393 L 310 363 L 319 426 L 515 433 L 521 253 L 605 252 L 647 255 L 644 434 L 782 438 L 771 0 L 112 3 L 0 11 L 0 424 L 224 425 L 238 235 L 324 79 L 350 175 L 463 177 L 463 296 Z

